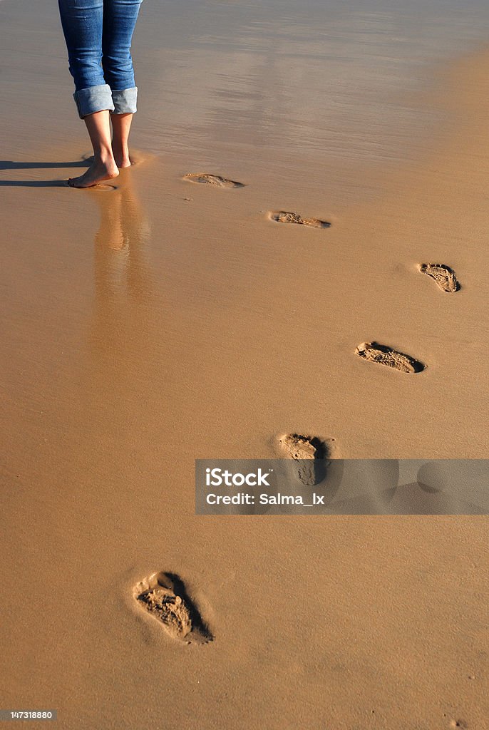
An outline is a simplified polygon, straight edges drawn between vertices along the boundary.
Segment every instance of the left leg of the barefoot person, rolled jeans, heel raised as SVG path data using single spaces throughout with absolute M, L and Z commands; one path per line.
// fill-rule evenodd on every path
M 74 188 L 88 188 L 119 174 L 110 140 L 112 92 L 101 67 L 104 1 L 58 0 L 58 4 L 69 70 L 74 78 L 74 100 L 87 126 L 94 157 L 87 172 L 72 178 L 69 184 Z

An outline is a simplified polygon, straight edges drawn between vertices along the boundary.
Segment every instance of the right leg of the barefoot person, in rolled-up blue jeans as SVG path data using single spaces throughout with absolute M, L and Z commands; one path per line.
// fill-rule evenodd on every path
M 131 41 L 142 0 L 104 0 L 102 64 L 112 90 L 112 150 L 120 167 L 128 167 L 129 131 L 136 112 L 137 87 L 131 58 Z

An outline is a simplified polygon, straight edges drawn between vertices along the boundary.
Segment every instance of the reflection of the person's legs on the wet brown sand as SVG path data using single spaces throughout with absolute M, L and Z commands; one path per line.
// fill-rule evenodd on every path
M 148 261 L 151 229 L 131 177 L 121 174 L 118 189 L 109 195 L 89 193 L 100 221 L 82 423 L 93 453 L 100 452 L 109 499 L 114 480 L 128 478 L 128 453 L 153 449 L 155 412 L 165 412 L 167 397 L 165 319 Z

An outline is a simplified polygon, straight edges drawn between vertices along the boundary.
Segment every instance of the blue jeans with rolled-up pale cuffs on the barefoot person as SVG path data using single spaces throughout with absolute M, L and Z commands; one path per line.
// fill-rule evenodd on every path
M 134 114 L 131 39 L 142 0 L 58 0 L 80 119 L 93 112 Z

